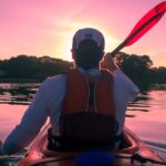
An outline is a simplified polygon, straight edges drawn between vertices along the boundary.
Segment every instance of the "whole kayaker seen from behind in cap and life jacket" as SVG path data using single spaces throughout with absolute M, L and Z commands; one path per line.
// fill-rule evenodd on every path
M 71 139 L 77 141 L 79 136 L 83 136 L 83 139 L 90 138 L 90 142 L 93 142 L 93 136 L 96 136 L 97 142 L 102 139 L 107 142 L 107 138 L 112 138 L 112 136 L 104 131 L 112 131 L 111 124 L 116 127 L 112 131 L 115 131 L 116 136 L 123 133 L 127 103 L 136 97 L 138 87 L 118 69 L 108 53 L 104 56 L 104 37 L 95 29 L 80 29 L 74 34 L 71 50 L 74 70 L 48 77 L 41 84 L 20 124 L 9 134 L 4 143 L 1 143 L 1 155 L 11 155 L 28 146 L 45 124 L 48 117 L 52 126 L 52 135 L 55 137 L 59 137 L 60 134 L 70 137 L 68 129 L 71 132 L 71 127 L 74 127 L 72 134 L 76 133 L 76 136 L 72 135 Z M 102 61 L 103 56 L 104 60 Z M 101 69 L 107 71 L 100 71 L 101 61 Z M 102 85 L 104 86 L 102 87 Z M 87 115 L 90 118 L 85 120 L 89 125 L 91 125 L 90 121 L 96 123 L 93 121 L 97 118 L 101 122 L 103 121 L 104 125 L 102 126 L 103 123 L 98 121 L 95 132 L 89 133 L 90 137 L 84 136 L 86 131 L 91 132 L 90 126 L 84 127 L 85 121 L 80 125 L 80 118 L 76 125 L 74 122 L 69 122 L 75 120 L 75 117 L 65 116 L 72 115 L 72 111 L 76 117 L 79 117 L 77 114 L 90 112 L 90 116 Z M 100 117 L 92 120 L 91 113 L 98 113 Z M 101 118 L 102 115 L 104 118 Z M 62 123 L 61 118 L 63 120 Z M 81 118 L 85 118 L 84 115 Z M 110 123 L 110 121 L 113 122 Z M 107 127 L 103 129 L 106 125 Z M 79 131 L 77 126 L 84 131 Z M 96 131 L 100 131 L 101 135 L 97 135 Z M 107 135 L 107 137 L 104 136 L 103 138 L 103 135 Z M 121 139 L 118 139 L 116 147 L 120 142 Z

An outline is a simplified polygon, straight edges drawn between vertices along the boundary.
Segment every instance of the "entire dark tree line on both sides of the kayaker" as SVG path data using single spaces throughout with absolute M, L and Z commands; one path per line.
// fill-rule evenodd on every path
M 115 58 L 120 69 L 136 84 L 166 83 L 166 68 L 153 68 L 148 55 L 136 55 L 120 52 Z M 0 60 L 0 79 L 35 79 L 63 73 L 73 66 L 72 62 L 50 56 L 30 56 L 21 54 Z

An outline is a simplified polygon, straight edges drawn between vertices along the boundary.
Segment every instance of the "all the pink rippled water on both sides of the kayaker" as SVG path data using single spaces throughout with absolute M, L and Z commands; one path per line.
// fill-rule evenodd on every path
M 0 83 L 0 139 L 4 141 L 30 104 L 39 83 Z M 166 159 L 166 84 L 152 85 L 128 104 L 125 125 Z M 8 158 L 15 165 L 25 151 Z M 1 165 L 1 163 L 0 163 Z

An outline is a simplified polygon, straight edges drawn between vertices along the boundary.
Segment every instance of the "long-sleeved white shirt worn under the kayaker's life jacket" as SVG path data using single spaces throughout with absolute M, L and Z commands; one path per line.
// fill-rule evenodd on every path
M 81 72 L 85 72 L 80 69 Z M 98 75 L 96 69 L 89 70 L 90 75 Z M 136 97 L 138 87 L 120 70 L 113 72 L 114 76 L 114 100 L 116 108 L 116 121 L 118 133 L 122 133 L 125 121 L 127 103 Z M 65 74 L 46 79 L 40 86 L 31 105 L 24 113 L 21 122 L 1 146 L 2 154 L 13 154 L 28 146 L 50 117 L 53 134 L 59 133 L 62 101 L 65 95 Z

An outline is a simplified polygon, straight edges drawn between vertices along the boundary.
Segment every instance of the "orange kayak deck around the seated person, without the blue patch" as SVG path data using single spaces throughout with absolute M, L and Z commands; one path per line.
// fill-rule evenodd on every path
M 53 152 L 46 148 L 48 145 L 48 129 L 46 125 L 33 142 L 30 151 L 25 157 L 20 162 L 19 166 L 76 166 L 75 156 L 83 152 Z M 137 164 L 131 163 L 131 157 L 138 154 L 145 158 L 156 162 L 162 162 L 159 156 L 155 154 L 145 143 L 143 143 L 128 128 L 124 128 L 124 148 L 114 152 L 107 152 L 115 155 L 116 159 L 114 166 L 135 166 Z

